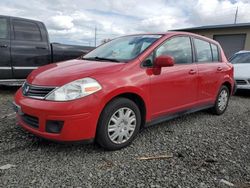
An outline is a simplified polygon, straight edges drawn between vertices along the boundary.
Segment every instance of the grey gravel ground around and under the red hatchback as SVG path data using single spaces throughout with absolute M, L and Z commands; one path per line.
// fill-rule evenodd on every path
M 250 187 L 250 93 L 233 96 L 222 116 L 186 115 L 108 152 L 25 132 L 12 114 L 15 91 L 0 88 L 0 187 Z M 170 158 L 138 159 L 160 155 Z

